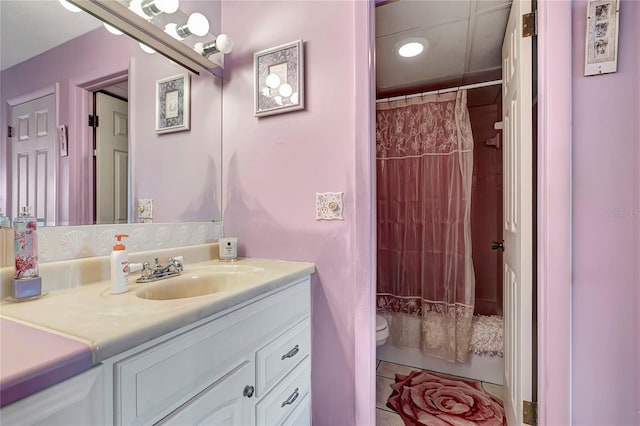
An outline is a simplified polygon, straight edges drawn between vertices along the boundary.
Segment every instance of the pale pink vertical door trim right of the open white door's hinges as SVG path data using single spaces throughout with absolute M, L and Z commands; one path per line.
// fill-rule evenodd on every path
M 571 2 L 538 0 L 538 424 L 571 424 Z

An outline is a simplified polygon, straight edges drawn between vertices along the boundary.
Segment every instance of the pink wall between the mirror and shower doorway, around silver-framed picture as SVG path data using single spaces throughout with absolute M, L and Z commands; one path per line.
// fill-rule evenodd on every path
M 356 417 L 372 424 L 372 286 L 356 283 L 371 279 L 371 264 L 361 267 L 372 247 L 368 13 L 367 3 L 350 1 L 222 4 L 222 30 L 235 41 L 224 76 L 225 235 L 239 237 L 240 255 L 316 264 L 312 409 L 319 425 L 351 425 Z M 305 110 L 255 118 L 253 53 L 300 38 Z M 345 220 L 315 220 L 315 193 L 326 191 L 344 191 Z

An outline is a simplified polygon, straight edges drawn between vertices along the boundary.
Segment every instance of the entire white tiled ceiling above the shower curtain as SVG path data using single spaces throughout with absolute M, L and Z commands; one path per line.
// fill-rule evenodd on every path
M 511 0 L 378 0 L 378 98 L 501 78 L 501 51 Z M 403 40 L 422 38 L 425 51 L 403 58 Z M 469 92 L 469 105 L 494 103 L 500 86 Z

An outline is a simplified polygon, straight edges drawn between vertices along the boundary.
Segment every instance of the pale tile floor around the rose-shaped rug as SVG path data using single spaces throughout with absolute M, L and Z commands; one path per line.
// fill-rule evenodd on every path
M 387 407 L 387 399 L 391 395 L 390 385 L 395 383 L 395 374 L 407 375 L 413 370 L 419 369 L 378 360 L 376 367 L 376 426 L 404 426 L 400 416 Z M 502 399 L 501 385 L 488 382 L 481 383 L 487 392 Z

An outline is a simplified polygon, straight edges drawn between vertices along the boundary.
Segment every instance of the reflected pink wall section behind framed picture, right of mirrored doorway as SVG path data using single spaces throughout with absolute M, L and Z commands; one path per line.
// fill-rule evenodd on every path
M 221 220 L 222 82 L 208 73 L 191 75 L 190 130 L 158 135 L 156 80 L 190 73 L 142 53 L 131 70 L 132 200 L 153 198 L 156 222 Z

